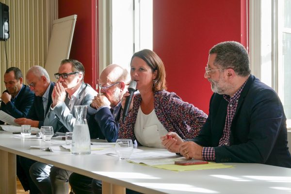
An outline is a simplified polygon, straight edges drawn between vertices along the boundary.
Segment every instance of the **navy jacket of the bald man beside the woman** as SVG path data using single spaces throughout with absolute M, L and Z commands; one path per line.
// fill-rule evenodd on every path
M 116 142 L 119 131 L 119 118 L 121 113 L 121 103 L 114 109 L 104 107 L 97 111 L 89 107 L 87 113 L 88 126 L 91 138 L 106 139 L 108 142 Z M 113 113 L 116 113 L 115 119 Z

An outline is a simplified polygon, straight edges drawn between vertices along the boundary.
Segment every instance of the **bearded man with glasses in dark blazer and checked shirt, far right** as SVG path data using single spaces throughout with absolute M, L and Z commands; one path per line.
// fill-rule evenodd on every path
M 204 77 L 214 94 L 199 135 L 183 141 L 170 132 L 161 137 L 162 144 L 186 159 L 291 168 L 282 103 L 272 88 L 251 75 L 244 47 L 233 41 L 215 45 Z

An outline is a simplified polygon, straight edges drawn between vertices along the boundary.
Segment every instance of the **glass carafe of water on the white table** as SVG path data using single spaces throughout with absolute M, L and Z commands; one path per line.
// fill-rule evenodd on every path
M 86 120 L 88 106 L 74 106 L 76 122 L 73 129 L 72 154 L 90 154 L 90 133 Z

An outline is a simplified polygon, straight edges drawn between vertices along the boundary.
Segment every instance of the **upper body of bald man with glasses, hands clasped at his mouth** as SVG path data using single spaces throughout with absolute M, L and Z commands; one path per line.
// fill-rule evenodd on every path
M 94 97 L 88 108 L 88 114 L 94 116 L 101 135 L 108 142 L 115 142 L 118 139 L 120 100 L 127 91 L 129 81 L 130 76 L 126 69 L 116 64 L 108 65 L 100 74 L 98 85 L 100 94 Z M 99 138 L 101 135 L 98 135 Z

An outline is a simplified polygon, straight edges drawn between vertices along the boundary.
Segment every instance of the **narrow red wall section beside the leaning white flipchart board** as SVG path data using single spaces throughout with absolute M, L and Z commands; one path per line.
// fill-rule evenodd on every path
M 93 88 L 98 75 L 96 6 L 96 0 L 59 0 L 59 18 L 77 15 L 70 58 L 84 65 L 84 81 Z

